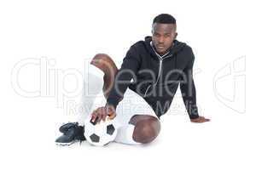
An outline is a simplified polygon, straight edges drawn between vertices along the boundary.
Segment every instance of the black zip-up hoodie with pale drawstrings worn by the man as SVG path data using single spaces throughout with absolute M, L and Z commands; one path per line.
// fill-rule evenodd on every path
M 139 94 L 160 117 L 168 111 L 178 84 L 190 119 L 198 117 L 193 80 L 195 56 L 183 42 L 174 40 L 169 52 L 156 53 L 152 37 L 136 42 L 128 50 L 107 99 L 107 105 L 117 107 L 126 89 Z M 131 82 L 133 79 L 133 82 Z M 122 83 L 120 83 L 122 82 Z

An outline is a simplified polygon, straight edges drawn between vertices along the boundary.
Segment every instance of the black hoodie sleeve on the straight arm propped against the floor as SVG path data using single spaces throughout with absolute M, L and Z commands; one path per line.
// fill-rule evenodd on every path
M 193 79 L 193 65 L 195 60 L 195 55 L 191 48 L 189 48 L 189 57 L 190 59 L 188 65 L 185 67 L 184 74 L 187 80 L 184 80 L 180 83 L 180 89 L 183 95 L 183 102 L 186 107 L 186 110 L 189 113 L 190 119 L 198 118 L 198 109 L 196 106 L 196 92 L 195 92 L 195 83 Z

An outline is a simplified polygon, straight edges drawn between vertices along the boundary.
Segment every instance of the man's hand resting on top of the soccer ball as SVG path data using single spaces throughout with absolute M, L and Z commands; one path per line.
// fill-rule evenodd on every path
M 105 105 L 103 107 L 97 108 L 95 111 L 91 114 L 91 122 L 103 122 L 106 121 L 106 118 L 113 119 L 116 116 L 115 109 L 112 105 Z

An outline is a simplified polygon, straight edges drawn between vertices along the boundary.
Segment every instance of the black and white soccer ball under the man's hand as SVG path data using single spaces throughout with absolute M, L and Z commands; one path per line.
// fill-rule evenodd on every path
M 118 122 L 115 119 L 101 121 L 100 123 L 90 122 L 90 117 L 84 122 L 84 136 L 93 145 L 103 146 L 113 141 L 117 134 Z

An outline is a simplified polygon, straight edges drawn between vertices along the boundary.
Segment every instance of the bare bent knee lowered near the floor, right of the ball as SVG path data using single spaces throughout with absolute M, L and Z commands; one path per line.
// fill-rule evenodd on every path
M 141 120 L 136 123 L 132 138 L 138 143 L 152 142 L 160 133 L 160 122 L 157 118 Z

